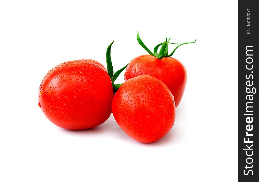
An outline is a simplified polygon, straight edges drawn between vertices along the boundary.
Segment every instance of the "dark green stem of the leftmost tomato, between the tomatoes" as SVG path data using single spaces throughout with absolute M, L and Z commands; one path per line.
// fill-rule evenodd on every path
M 107 51 L 106 51 L 106 64 L 107 64 L 108 75 L 111 78 L 113 92 L 115 94 L 122 84 L 114 84 L 114 81 L 118 78 L 118 76 L 121 74 L 121 72 L 128 66 L 128 64 L 114 73 L 112 62 L 111 62 L 111 46 L 112 46 L 113 42 L 114 41 L 111 42 L 111 44 L 108 46 Z

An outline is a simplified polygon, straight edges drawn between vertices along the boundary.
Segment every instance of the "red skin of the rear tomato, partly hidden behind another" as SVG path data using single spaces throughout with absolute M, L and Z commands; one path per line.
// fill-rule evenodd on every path
M 134 58 L 127 66 L 125 81 L 140 75 L 150 75 L 160 79 L 172 92 L 176 107 L 179 105 L 187 82 L 187 72 L 183 64 L 172 57 L 161 60 L 151 55 Z

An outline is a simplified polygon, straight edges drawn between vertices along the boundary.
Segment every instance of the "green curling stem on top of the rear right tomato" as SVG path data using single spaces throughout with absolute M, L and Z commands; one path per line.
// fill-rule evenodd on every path
M 191 44 L 191 43 L 194 43 L 196 42 L 196 40 L 194 42 L 187 42 L 187 43 L 183 43 L 183 44 L 178 44 L 178 43 L 172 43 L 172 42 L 169 42 L 171 39 L 171 37 L 167 40 L 167 38 L 165 37 L 165 42 L 161 43 L 161 44 L 158 44 L 155 46 L 154 48 L 154 53 L 151 52 L 147 46 L 142 42 L 142 40 L 140 39 L 138 33 L 137 33 L 137 40 L 138 40 L 138 43 L 141 45 L 141 47 L 143 47 L 150 55 L 152 56 L 155 56 L 157 59 L 162 59 L 163 57 L 171 57 L 174 52 L 176 51 L 176 49 L 178 47 L 180 47 L 181 45 L 184 45 L 184 44 Z M 173 52 L 171 54 L 168 54 L 168 44 L 178 44 L 178 46 L 173 50 Z M 161 46 L 162 45 L 162 46 Z M 157 50 L 158 48 L 161 46 L 160 48 L 160 51 L 159 53 L 157 53 Z

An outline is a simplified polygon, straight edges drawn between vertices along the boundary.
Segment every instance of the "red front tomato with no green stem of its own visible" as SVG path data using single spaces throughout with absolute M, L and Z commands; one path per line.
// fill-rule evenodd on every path
M 175 122 L 175 103 L 169 88 L 152 76 L 124 82 L 112 100 L 112 113 L 131 138 L 152 143 L 169 132 Z

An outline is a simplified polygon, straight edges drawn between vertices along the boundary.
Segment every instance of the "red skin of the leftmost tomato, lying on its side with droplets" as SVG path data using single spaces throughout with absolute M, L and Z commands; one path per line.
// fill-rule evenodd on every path
M 47 73 L 39 89 L 39 106 L 55 125 L 82 130 L 109 118 L 113 96 L 104 66 L 80 59 L 64 62 Z

